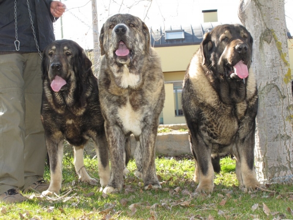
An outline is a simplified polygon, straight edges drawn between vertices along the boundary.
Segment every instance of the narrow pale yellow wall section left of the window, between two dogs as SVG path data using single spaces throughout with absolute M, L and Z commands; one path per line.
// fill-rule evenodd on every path
M 185 124 L 184 116 L 175 116 L 173 84 L 165 84 L 165 104 L 163 108 L 164 125 Z

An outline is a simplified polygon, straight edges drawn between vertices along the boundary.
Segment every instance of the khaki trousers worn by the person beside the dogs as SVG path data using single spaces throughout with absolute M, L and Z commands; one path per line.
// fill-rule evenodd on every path
M 42 178 L 46 157 L 38 53 L 0 55 L 0 194 Z

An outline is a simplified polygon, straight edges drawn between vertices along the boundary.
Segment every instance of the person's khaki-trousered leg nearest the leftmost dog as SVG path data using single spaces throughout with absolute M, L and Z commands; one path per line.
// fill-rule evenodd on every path
M 23 79 L 25 95 L 25 144 L 24 144 L 24 186 L 42 179 L 44 173 L 46 145 L 41 122 L 42 71 L 38 53 L 23 54 L 26 59 Z M 42 184 L 48 187 L 47 184 Z M 42 187 L 36 188 L 43 191 Z

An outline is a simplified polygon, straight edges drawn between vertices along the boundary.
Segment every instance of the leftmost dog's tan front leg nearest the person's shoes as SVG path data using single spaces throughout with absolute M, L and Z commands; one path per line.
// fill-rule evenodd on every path
M 57 144 L 56 141 L 53 141 L 56 136 L 45 136 L 47 151 L 50 159 L 51 175 L 49 188 L 42 192 L 42 195 L 45 196 L 59 194 L 62 185 L 63 136 Z

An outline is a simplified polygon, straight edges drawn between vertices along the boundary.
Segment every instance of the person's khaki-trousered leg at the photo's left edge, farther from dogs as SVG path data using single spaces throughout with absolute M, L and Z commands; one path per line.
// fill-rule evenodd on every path
M 0 55 L 0 195 L 24 185 L 24 59 Z

